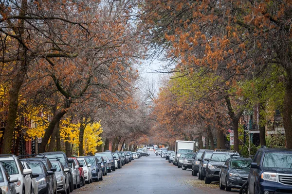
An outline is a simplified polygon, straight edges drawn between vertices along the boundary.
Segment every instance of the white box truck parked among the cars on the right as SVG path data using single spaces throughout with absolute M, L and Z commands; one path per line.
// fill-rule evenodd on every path
M 175 141 L 175 165 L 178 165 L 179 162 L 179 157 L 181 156 L 182 153 L 186 152 L 195 152 L 196 151 L 196 142 L 192 141 L 181 141 L 181 140 L 176 140 Z

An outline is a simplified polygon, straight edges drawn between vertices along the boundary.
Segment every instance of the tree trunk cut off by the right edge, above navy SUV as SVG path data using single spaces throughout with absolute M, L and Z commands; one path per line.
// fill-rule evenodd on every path
M 288 81 L 283 103 L 283 124 L 286 134 L 287 148 L 292 149 L 292 70 L 287 71 Z

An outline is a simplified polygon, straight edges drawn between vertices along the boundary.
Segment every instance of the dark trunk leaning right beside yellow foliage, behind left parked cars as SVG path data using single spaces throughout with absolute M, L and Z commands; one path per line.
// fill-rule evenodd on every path
M 39 153 L 46 151 L 46 146 L 47 146 L 49 139 L 54 131 L 55 124 L 61 120 L 61 118 L 64 116 L 64 114 L 67 113 L 67 108 L 70 107 L 70 104 L 71 104 L 71 101 L 65 99 L 64 108 L 60 112 L 58 112 L 54 115 L 52 121 L 50 122 L 48 128 L 46 129 L 44 137 L 42 138 L 42 142 L 39 146 Z

